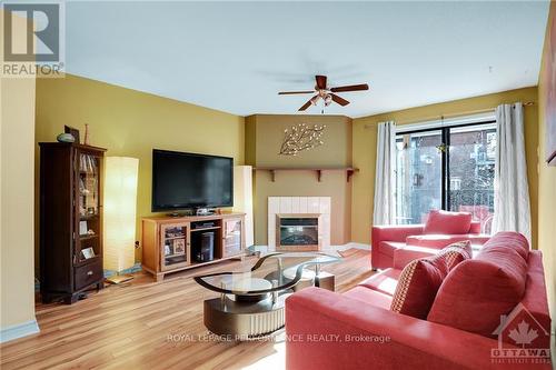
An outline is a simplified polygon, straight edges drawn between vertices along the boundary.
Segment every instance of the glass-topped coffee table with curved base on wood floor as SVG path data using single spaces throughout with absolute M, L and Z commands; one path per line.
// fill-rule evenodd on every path
M 334 290 L 334 274 L 320 267 L 340 259 L 320 252 L 270 253 L 249 271 L 195 277 L 200 286 L 220 293 L 203 302 L 205 326 L 238 340 L 271 334 L 284 327 L 285 300 L 294 291 L 306 287 Z

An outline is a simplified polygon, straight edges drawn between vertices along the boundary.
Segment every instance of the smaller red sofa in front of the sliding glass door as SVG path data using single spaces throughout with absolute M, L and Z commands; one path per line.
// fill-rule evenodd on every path
M 374 226 L 371 240 L 373 270 L 394 267 L 394 254 L 410 247 L 413 258 L 427 257 L 448 244 L 469 240 L 484 244 L 490 236 L 480 233 L 480 222 L 468 212 L 433 210 L 424 224 Z

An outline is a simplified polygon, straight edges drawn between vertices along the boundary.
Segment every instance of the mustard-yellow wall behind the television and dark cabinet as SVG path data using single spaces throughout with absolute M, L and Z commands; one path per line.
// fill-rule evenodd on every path
M 151 214 L 152 149 L 234 157 L 244 163 L 244 118 L 76 76 L 37 81 L 37 141 L 56 141 L 68 124 L 107 156 L 139 159 L 137 238 Z M 37 148 L 38 150 L 38 148 Z M 139 240 L 139 239 L 137 239 Z M 140 259 L 140 250 L 136 257 Z

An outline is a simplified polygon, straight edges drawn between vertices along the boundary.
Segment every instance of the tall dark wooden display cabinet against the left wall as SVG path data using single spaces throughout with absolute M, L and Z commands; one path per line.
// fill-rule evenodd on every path
M 40 290 L 42 301 L 73 303 L 103 286 L 102 162 L 106 149 L 40 146 Z

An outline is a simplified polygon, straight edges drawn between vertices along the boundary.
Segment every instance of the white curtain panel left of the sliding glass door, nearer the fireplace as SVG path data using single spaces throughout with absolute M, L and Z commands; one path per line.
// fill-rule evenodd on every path
M 395 223 L 396 124 L 378 123 L 373 224 Z

